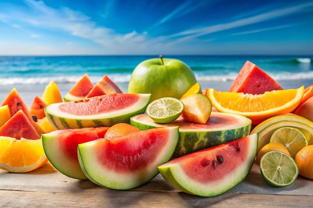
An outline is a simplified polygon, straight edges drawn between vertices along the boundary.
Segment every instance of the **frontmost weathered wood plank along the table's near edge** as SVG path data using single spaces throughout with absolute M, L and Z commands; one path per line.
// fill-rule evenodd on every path
M 311 208 L 313 202 L 310 196 L 223 194 L 203 198 L 177 192 L 116 190 L 82 190 L 72 193 L 0 191 L 0 196 L 0 207 L 3 208 Z

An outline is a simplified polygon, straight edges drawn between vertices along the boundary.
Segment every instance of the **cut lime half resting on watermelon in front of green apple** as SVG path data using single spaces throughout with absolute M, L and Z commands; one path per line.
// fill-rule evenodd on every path
M 163 97 L 148 104 L 146 113 L 156 123 L 167 124 L 176 120 L 182 110 L 183 103 L 173 97 Z

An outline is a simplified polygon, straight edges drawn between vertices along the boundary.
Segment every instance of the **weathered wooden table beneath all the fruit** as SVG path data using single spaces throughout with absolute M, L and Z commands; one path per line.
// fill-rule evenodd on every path
M 38 170 L 14 174 L 0 170 L 0 207 L 38 208 L 312 208 L 313 181 L 298 177 L 290 186 L 273 188 L 254 165 L 248 176 L 228 192 L 211 198 L 182 193 L 157 175 L 147 184 L 127 191 L 75 180 L 49 163 Z

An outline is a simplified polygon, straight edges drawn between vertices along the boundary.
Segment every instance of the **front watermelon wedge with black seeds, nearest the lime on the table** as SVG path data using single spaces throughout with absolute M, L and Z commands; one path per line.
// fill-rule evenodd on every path
M 252 168 L 257 134 L 211 147 L 158 166 L 163 178 L 187 194 L 213 197 L 240 183 Z

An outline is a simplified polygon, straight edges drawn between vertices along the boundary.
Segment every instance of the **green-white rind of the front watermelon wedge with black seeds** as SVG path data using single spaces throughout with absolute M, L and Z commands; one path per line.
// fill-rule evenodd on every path
M 159 172 L 167 183 L 184 193 L 201 197 L 215 197 L 221 195 L 243 181 L 253 166 L 256 156 L 258 134 L 251 134 L 245 138 L 248 138 L 250 141 L 249 147 L 246 150 L 248 151 L 247 157 L 242 161 L 241 165 L 225 173 L 223 179 L 220 181 L 215 181 L 211 184 L 196 182 L 186 176 L 177 163 L 170 165 L 164 163 L 158 166 Z M 207 151 L 209 151 L 209 149 L 207 149 Z M 194 154 L 192 157 L 196 158 Z

